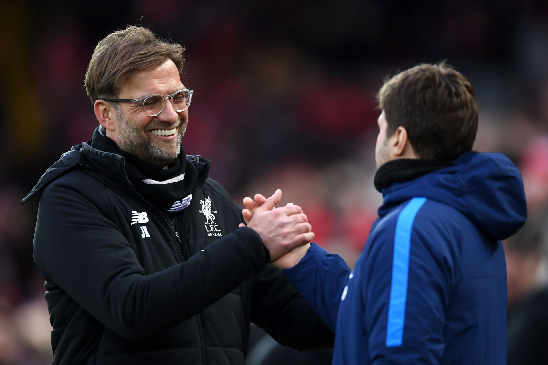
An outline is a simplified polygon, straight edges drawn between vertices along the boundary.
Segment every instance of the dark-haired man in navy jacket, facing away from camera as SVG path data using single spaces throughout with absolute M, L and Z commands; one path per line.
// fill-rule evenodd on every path
M 334 364 L 505 364 L 500 240 L 527 218 L 521 174 L 471 151 L 474 92 L 447 65 L 394 76 L 379 106 L 384 202 L 354 270 L 312 244 L 285 275 L 335 331 Z M 244 203 L 248 220 L 255 202 Z

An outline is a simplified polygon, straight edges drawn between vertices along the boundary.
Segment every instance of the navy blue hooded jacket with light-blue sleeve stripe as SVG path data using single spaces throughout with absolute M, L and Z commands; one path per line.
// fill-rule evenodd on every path
M 335 330 L 333 363 L 505 364 L 500 239 L 527 218 L 520 172 L 467 152 L 383 196 L 353 271 L 314 244 L 285 270 Z

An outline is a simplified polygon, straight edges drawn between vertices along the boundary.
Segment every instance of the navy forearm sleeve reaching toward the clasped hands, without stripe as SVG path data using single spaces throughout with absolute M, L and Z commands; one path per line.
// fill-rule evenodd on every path
M 341 294 L 350 274 L 345 261 L 313 243 L 304 258 L 284 273 L 329 328 L 335 331 Z

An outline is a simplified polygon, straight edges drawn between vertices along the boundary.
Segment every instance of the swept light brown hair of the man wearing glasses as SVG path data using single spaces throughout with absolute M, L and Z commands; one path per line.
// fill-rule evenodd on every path
M 110 33 L 95 46 L 85 72 L 85 92 L 92 102 L 115 97 L 121 85 L 137 71 L 171 59 L 182 72 L 184 48 L 157 38 L 148 28 L 128 26 Z

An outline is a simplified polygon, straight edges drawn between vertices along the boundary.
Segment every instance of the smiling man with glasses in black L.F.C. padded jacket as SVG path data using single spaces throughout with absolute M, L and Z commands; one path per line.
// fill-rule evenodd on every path
M 295 349 L 333 333 L 270 265 L 313 238 L 300 207 L 248 227 L 209 161 L 182 150 L 192 90 L 182 48 L 142 27 L 96 45 L 85 77 L 100 126 L 42 192 L 34 241 L 54 364 L 243 364 L 249 323 Z

